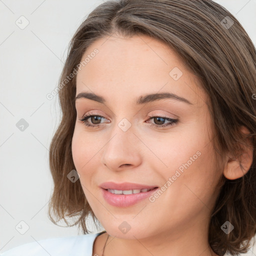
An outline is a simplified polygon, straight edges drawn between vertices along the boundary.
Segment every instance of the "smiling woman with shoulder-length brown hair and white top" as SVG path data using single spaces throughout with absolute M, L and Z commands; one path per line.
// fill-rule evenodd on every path
M 76 216 L 84 235 L 2 255 L 246 252 L 256 228 L 255 63 L 245 30 L 211 0 L 96 7 L 70 42 L 49 154 L 50 219 Z M 103 232 L 89 234 L 89 215 Z

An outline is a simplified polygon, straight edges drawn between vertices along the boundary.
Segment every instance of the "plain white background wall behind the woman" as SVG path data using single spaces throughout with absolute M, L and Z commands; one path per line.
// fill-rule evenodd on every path
M 53 183 L 48 148 L 59 122 L 58 83 L 73 33 L 99 0 L 0 0 L 0 252 L 49 237 L 77 235 L 47 218 Z M 256 42 L 256 0 L 218 0 Z M 15 21 L 25 16 L 20 29 Z M 16 123 L 24 118 L 28 127 Z M 25 221 L 20 234 L 15 226 Z M 64 225 L 64 223 L 63 223 Z M 93 232 L 97 230 L 90 225 Z M 255 254 L 254 254 L 254 253 Z M 254 250 L 243 255 L 256 255 Z

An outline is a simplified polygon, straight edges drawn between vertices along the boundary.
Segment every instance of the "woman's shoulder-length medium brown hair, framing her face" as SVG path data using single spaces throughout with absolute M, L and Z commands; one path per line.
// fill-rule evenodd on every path
M 228 16 L 228 17 L 226 17 Z M 233 22 L 233 24 L 232 24 Z M 241 153 L 245 126 L 253 146 L 253 161 L 245 175 L 234 180 L 222 176 L 221 189 L 212 209 L 208 242 L 215 253 L 244 253 L 256 229 L 256 51 L 244 28 L 221 5 L 211 0 L 116 0 L 97 6 L 73 35 L 60 82 L 74 73 L 87 47 L 113 33 L 124 37 L 148 35 L 176 51 L 184 64 L 201 81 L 209 96 L 216 152 L 223 157 Z M 54 181 L 48 214 L 52 222 L 64 219 L 90 232 L 85 220 L 91 215 L 80 182 L 70 182 L 75 169 L 71 140 L 76 120 L 76 77 L 59 90 L 62 119 L 52 138 L 49 166 Z M 52 210 L 52 212 L 51 212 Z M 70 224 L 66 217 L 78 217 Z M 221 225 L 229 221 L 234 229 L 226 234 Z

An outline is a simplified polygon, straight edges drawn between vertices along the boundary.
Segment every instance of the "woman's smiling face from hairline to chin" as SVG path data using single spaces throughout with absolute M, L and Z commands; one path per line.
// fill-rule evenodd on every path
M 103 101 L 86 95 L 76 99 L 72 156 L 97 219 L 119 238 L 207 230 L 221 170 L 208 99 L 196 77 L 173 50 L 144 35 L 101 38 L 81 61 L 86 57 L 77 73 L 76 96 L 94 93 Z M 154 93 L 169 97 L 143 100 Z M 92 115 L 85 122 L 94 127 L 79 120 L 85 114 Z M 101 187 L 108 181 L 139 184 L 116 190 L 141 184 L 158 188 L 113 194 Z

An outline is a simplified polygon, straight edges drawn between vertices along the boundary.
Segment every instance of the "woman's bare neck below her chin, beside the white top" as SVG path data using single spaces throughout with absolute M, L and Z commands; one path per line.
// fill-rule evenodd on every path
M 190 219 L 191 220 L 191 219 Z M 181 229 L 178 226 L 168 229 L 165 232 L 154 232 L 152 235 L 144 230 L 139 232 L 130 229 L 123 237 L 112 236 L 106 233 L 104 242 L 101 243 L 101 253 L 103 256 L 218 256 L 208 244 L 208 220 L 198 218 L 196 222 L 191 222 Z M 133 238 L 132 238 L 133 237 Z

